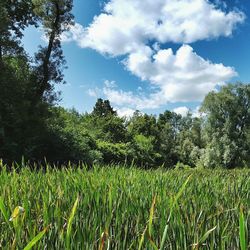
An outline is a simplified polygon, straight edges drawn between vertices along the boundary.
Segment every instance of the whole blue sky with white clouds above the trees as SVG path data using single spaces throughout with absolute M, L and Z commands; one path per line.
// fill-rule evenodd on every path
M 74 0 L 73 14 L 56 86 L 65 108 L 103 98 L 120 116 L 196 114 L 210 91 L 250 82 L 250 0 Z M 23 43 L 32 56 L 46 39 L 28 28 Z

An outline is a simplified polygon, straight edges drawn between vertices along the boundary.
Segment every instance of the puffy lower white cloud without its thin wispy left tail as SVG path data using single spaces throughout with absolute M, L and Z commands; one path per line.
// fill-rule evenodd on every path
M 172 49 L 154 54 L 145 47 L 131 53 L 125 65 L 134 75 L 157 86 L 160 90 L 154 97 L 163 103 L 201 101 L 209 91 L 237 75 L 232 67 L 198 56 L 189 45 L 181 46 L 176 54 Z

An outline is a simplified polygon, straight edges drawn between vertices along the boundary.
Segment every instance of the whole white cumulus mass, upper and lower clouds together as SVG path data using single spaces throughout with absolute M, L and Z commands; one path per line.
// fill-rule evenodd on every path
M 136 109 L 158 108 L 168 102 L 201 101 L 237 73 L 197 55 L 190 43 L 231 36 L 245 19 L 238 10 L 208 0 L 109 0 L 88 27 L 76 24 L 62 40 L 76 41 L 110 56 L 125 56 L 125 68 L 155 87 L 151 94 L 135 94 L 107 81 L 102 89 L 115 105 Z M 174 52 L 161 49 L 179 43 Z M 94 92 L 90 93 L 94 96 Z

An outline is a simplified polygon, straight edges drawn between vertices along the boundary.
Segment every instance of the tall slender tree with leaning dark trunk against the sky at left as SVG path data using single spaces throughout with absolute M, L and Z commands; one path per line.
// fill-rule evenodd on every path
M 46 47 L 40 47 L 36 54 L 35 67 L 38 78 L 37 96 L 45 98 L 49 102 L 56 99 L 53 93 L 53 83 L 63 80 L 65 60 L 61 48 L 60 36 L 73 24 L 72 0 L 33 0 L 34 12 L 48 39 Z

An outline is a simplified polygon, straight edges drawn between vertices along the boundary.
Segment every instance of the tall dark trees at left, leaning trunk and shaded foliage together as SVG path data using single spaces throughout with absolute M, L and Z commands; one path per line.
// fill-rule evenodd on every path
M 46 154 L 53 83 L 62 80 L 60 34 L 72 21 L 72 1 L 0 2 L 0 156 L 40 160 Z M 48 46 L 31 66 L 20 40 L 31 24 L 42 25 Z

